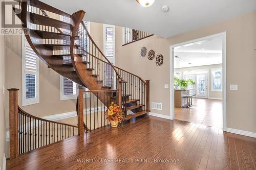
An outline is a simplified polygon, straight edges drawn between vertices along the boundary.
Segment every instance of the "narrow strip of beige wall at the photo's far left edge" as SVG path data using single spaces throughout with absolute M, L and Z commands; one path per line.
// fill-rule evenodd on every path
M 5 36 L 0 36 L 0 168 L 3 168 L 5 154 L 5 115 L 4 115 L 4 78 L 5 78 Z

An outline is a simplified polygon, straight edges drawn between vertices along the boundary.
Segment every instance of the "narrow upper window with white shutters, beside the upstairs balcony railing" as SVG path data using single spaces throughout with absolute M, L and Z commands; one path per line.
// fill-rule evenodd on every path
M 115 63 L 115 26 L 103 25 L 104 36 L 104 54 Z

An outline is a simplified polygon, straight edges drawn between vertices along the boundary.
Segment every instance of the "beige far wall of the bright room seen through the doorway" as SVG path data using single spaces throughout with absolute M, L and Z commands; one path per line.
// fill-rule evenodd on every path
M 182 73 L 182 78 L 184 78 L 184 71 L 192 71 L 192 70 L 207 70 L 209 72 L 208 74 L 208 98 L 218 98 L 222 99 L 222 92 L 221 91 L 211 91 L 211 83 L 212 83 L 212 76 L 211 76 L 211 69 L 214 68 L 222 68 L 222 64 L 213 64 L 213 65 L 202 65 L 197 67 L 184 67 L 184 68 L 178 68 L 174 69 L 174 71 L 179 70 Z

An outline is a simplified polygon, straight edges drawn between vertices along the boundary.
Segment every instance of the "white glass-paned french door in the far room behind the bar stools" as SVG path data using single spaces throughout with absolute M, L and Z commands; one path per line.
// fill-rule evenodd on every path
M 208 98 L 208 74 L 196 75 L 197 97 Z

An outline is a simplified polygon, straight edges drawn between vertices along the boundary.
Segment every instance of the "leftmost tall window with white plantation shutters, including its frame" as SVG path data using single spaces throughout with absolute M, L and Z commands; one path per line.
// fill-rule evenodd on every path
M 23 36 L 23 106 L 39 103 L 38 57 Z

